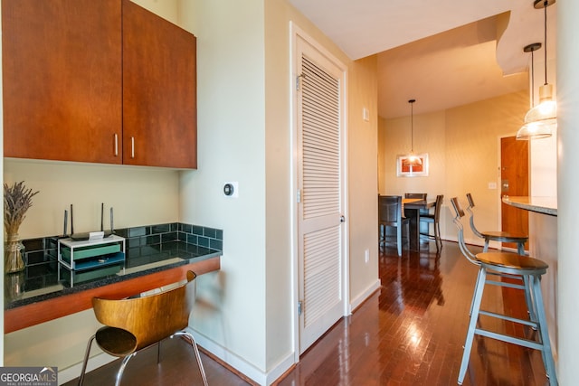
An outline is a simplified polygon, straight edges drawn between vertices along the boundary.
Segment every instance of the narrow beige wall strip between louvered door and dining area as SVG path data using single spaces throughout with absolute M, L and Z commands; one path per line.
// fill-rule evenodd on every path
M 350 305 L 359 306 L 380 286 L 378 278 L 378 115 L 375 56 L 351 63 L 348 108 L 348 229 Z M 363 119 L 367 108 L 370 119 Z M 365 261 L 365 251 L 369 259 Z

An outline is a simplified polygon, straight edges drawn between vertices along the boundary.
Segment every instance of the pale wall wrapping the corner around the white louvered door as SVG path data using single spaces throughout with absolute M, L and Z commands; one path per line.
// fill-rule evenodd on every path
M 348 157 L 367 173 L 350 189 L 349 205 L 360 208 L 350 245 L 356 263 L 364 259 L 365 248 L 371 249 L 372 260 L 350 278 L 352 297 L 360 297 L 377 279 L 376 116 L 363 124 L 358 111 L 365 105 L 376 114 L 375 83 L 369 86 L 375 65 L 349 61 L 283 0 L 239 6 L 184 1 L 181 6 L 184 25 L 198 39 L 199 140 L 204 144 L 199 169 L 182 174 L 182 218 L 208 226 L 215 222 L 224 238 L 221 271 L 199 278 L 193 327 L 200 344 L 255 381 L 269 383 L 295 355 L 289 21 L 356 74 L 347 86 L 354 88 L 347 98 L 356 106 L 356 113 L 348 112 L 348 142 L 354 148 Z M 239 182 L 239 198 L 223 197 L 225 181 Z

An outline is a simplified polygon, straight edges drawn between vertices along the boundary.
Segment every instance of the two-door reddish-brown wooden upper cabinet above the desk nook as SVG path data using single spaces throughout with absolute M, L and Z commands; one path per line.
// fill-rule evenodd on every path
M 195 36 L 128 0 L 2 0 L 4 155 L 197 166 Z

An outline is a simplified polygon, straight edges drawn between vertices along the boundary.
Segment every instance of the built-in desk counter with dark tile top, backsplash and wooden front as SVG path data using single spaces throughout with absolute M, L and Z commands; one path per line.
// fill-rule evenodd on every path
M 5 275 L 5 334 L 89 309 L 93 297 L 130 297 L 175 283 L 187 270 L 220 269 L 223 231 L 171 223 L 117 234 L 126 238 L 127 259 L 114 272 L 74 283 L 55 256 L 58 238 L 24 242 L 25 270 Z M 33 244 L 42 247 L 31 250 Z

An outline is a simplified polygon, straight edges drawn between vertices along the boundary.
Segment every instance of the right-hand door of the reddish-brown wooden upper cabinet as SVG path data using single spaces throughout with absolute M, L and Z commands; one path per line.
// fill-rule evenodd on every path
M 195 36 L 123 0 L 123 163 L 196 168 Z

